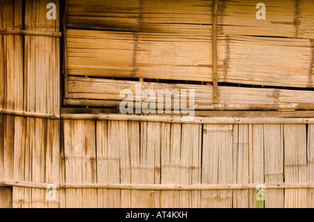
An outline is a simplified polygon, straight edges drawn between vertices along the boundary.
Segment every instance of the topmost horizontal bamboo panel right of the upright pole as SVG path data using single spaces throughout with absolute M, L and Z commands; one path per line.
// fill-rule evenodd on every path
M 311 0 L 262 1 L 265 19 L 256 19 L 257 1 L 218 1 L 218 30 L 225 35 L 314 38 Z

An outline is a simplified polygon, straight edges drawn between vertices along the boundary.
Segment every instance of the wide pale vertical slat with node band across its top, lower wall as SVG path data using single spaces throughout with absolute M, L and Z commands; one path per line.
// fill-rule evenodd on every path
M 204 125 L 202 184 L 233 182 L 232 134 L 232 125 Z M 232 191 L 202 191 L 201 207 L 232 207 Z

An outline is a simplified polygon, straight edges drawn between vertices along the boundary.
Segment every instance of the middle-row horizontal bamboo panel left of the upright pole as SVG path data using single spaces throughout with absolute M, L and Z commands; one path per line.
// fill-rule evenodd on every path
M 209 36 L 68 30 L 73 75 L 212 81 L 211 54 Z

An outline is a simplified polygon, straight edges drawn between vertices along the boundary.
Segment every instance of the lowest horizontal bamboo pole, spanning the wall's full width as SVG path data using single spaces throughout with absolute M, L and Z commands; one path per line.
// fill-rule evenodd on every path
M 47 189 L 50 184 L 1 180 L 3 186 Z M 225 190 L 255 189 L 257 184 L 54 184 L 56 189 L 132 189 L 132 190 Z M 265 183 L 265 189 L 314 189 L 313 183 Z

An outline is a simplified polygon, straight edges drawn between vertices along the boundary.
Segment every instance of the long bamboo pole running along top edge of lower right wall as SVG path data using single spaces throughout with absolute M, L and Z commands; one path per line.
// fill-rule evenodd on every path
M 135 116 L 123 114 L 61 114 L 66 120 L 121 120 L 121 121 L 147 121 L 147 122 L 174 122 L 199 124 L 306 124 L 314 123 L 314 118 L 234 118 L 234 117 L 195 117 L 184 121 L 181 117 L 171 116 Z

